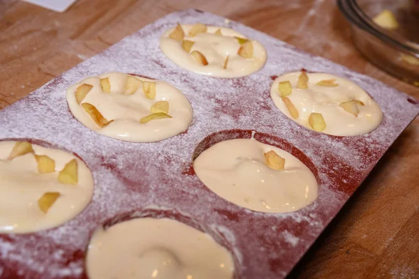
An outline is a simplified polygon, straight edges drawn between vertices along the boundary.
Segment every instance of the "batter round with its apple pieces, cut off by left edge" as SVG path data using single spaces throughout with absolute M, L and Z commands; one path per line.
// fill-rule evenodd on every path
M 89 204 L 93 177 L 73 153 L 0 142 L 0 232 L 57 227 Z

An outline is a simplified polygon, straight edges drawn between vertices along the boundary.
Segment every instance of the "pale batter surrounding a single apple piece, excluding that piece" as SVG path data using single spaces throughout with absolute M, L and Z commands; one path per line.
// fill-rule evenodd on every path
M 273 150 L 284 169 L 267 166 Z M 203 151 L 193 162 L 201 181 L 216 195 L 253 211 L 283 213 L 307 206 L 318 195 L 310 169 L 291 153 L 254 139 L 226 140 Z

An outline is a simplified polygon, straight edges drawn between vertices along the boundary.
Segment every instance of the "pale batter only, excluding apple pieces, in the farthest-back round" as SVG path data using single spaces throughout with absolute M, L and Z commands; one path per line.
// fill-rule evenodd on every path
M 182 68 L 213 77 L 242 77 L 255 73 L 265 65 L 266 50 L 258 41 L 251 40 L 253 55 L 251 58 L 244 58 L 237 54 L 241 44 L 240 40 L 235 38 L 246 38 L 242 33 L 230 28 L 207 26 L 205 33 L 189 36 L 192 28 L 192 24 L 182 24 L 184 40 L 193 42 L 189 52 L 182 48 L 181 40 L 169 37 L 174 29 L 166 31 L 160 38 L 160 48 L 163 54 Z M 221 31 L 221 35 L 216 34 L 217 30 Z M 196 61 L 191 55 L 191 52 L 195 50 L 205 56 L 208 65 L 202 65 Z M 224 67 L 227 56 L 228 63 Z

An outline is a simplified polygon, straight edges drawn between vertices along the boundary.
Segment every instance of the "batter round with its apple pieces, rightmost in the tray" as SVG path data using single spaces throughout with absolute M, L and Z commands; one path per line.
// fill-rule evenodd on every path
M 379 105 L 364 89 L 326 73 L 281 75 L 272 84 L 271 98 L 288 118 L 328 135 L 370 133 L 383 119 Z

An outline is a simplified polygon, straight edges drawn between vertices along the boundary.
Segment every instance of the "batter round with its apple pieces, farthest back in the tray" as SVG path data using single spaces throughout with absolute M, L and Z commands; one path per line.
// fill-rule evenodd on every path
M 182 68 L 213 77 L 250 75 L 265 65 L 267 56 L 258 41 L 230 28 L 201 23 L 178 23 L 163 33 L 160 48 Z

